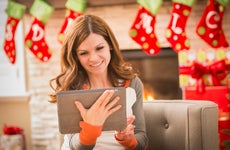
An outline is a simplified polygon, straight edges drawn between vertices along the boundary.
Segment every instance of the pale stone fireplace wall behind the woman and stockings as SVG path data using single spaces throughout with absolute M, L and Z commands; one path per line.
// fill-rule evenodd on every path
M 191 49 L 210 47 L 200 40 L 195 34 L 195 26 L 198 23 L 206 1 L 199 1 L 192 9 L 188 19 L 186 32 L 191 39 Z M 156 36 L 162 47 L 168 47 L 169 43 L 164 38 L 164 31 L 171 17 L 171 2 L 164 2 L 156 16 L 155 25 Z M 87 8 L 86 13 L 93 13 L 104 18 L 111 26 L 121 49 L 140 48 L 128 36 L 128 30 L 134 21 L 138 9 L 137 4 L 111 6 L 111 7 L 92 7 Z M 46 25 L 46 40 L 52 49 L 52 58 L 46 63 L 42 63 L 34 58 L 33 54 L 26 49 L 26 61 L 28 69 L 28 87 L 31 94 L 30 106 L 32 116 L 32 145 L 35 150 L 53 150 L 59 147 L 59 133 L 56 116 L 56 104 L 50 104 L 49 80 L 59 72 L 59 52 L 60 44 L 57 42 L 57 33 L 64 20 L 65 9 L 55 10 Z M 230 42 L 230 7 L 226 9 L 223 21 L 223 30 Z M 27 14 L 24 17 L 25 33 L 28 32 L 32 17 Z

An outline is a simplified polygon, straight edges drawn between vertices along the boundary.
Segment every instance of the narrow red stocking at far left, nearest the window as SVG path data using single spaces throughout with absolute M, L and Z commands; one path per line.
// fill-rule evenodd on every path
M 15 31 L 20 19 L 22 19 L 25 13 L 25 10 L 26 6 L 13 1 L 9 1 L 6 8 L 8 18 L 5 27 L 5 40 L 3 48 L 12 64 L 14 64 L 16 60 L 16 47 L 14 41 Z

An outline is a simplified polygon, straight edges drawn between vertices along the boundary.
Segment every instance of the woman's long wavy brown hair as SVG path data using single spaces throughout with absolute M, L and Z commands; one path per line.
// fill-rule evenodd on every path
M 133 79 L 137 75 L 132 65 L 124 61 L 118 42 L 107 23 L 97 16 L 83 15 L 71 23 L 65 34 L 61 48 L 61 73 L 50 80 L 50 86 L 54 90 L 50 95 L 50 102 L 56 102 L 56 94 L 59 91 L 82 89 L 82 86 L 89 82 L 76 50 L 90 33 L 103 36 L 111 48 L 108 76 L 114 87 L 124 86 L 126 80 Z

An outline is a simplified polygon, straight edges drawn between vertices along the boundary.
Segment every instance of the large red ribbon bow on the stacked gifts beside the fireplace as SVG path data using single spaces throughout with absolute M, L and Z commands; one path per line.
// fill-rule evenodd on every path
M 229 69 L 230 66 L 225 64 L 225 60 L 217 61 L 209 66 L 194 62 L 191 67 L 180 67 L 180 74 L 190 74 L 192 78 L 197 80 L 197 92 L 203 93 L 205 92 L 204 74 L 211 75 L 213 85 L 221 85 L 220 81 L 227 76 L 226 70 Z

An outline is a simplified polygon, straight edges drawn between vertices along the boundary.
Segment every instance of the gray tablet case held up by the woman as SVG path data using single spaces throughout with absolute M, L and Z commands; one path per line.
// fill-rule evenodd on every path
M 120 96 L 117 104 L 122 105 L 122 107 L 107 118 L 102 130 L 123 130 L 126 128 L 126 88 L 115 87 L 107 89 L 115 90 L 111 99 L 115 96 Z M 82 121 L 82 117 L 74 102 L 78 100 L 85 108 L 90 108 L 107 89 L 73 90 L 57 93 L 59 132 L 61 134 L 79 133 L 81 130 L 79 122 Z

